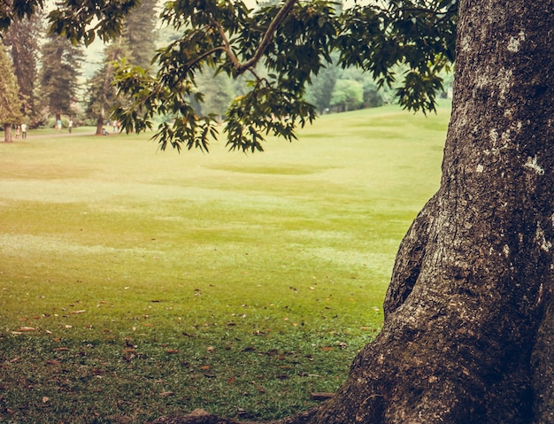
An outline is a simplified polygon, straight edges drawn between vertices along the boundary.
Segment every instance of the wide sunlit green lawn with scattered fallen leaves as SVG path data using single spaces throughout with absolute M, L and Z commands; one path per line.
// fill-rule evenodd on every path
M 0 422 L 309 408 L 381 326 L 448 115 L 328 115 L 255 155 L 0 143 Z

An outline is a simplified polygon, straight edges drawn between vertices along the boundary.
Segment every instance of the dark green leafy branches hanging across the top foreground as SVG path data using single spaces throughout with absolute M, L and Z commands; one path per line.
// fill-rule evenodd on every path
M 41 0 L 25 3 L 12 14 L 42 6 Z M 65 0 L 50 12 L 50 29 L 73 41 L 108 39 L 119 33 L 136 3 Z M 315 119 L 305 89 L 331 64 L 334 51 L 341 66 L 359 66 L 381 86 L 392 85 L 396 66 L 406 65 L 396 89 L 400 104 L 434 111 L 440 73 L 454 60 L 457 6 L 457 0 L 390 0 L 342 10 L 332 1 L 283 0 L 252 9 L 238 0 L 170 0 L 160 18 L 180 37 L 158 50 L 154 73 L 119 64 L 117 85 L 127 103 L 114 114 L 127 131 L 136 132 L 152 129 L 156 117 L 165 115 L 171 119 L 159 124 L 155 135 L 162 149 L 207 150 L 218 134 L 217 119 L 194 112 L 191 102 L 203 99 L 197 76 L 247 74 L 250 91 L 230 105 L 224 132 L 231 150 L 262 150 L 265 136 L 291 141 L 296 127 Z M 5 25 L 6 19 L 12 19 L 10 13 L 0 10 L 0 22 Z

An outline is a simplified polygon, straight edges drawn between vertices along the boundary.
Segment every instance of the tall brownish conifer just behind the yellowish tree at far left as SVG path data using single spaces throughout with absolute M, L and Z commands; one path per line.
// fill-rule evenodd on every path
M 16 19 L 4 34 L 4 43 L 9 47 L 13 69 L 18 79 L 19 96 L 23 114 L 35 126 L 38 120 L 36 106 L 37 65 L 39 40 L 42 35 L 41 16 L 31 19 Z

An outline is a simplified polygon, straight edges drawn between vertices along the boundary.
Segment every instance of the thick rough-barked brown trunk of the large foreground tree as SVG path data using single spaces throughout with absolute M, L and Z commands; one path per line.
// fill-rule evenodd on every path
M 459 2 L 441 187 L 381 334 L 333 399 L 281 424 L 554 422 L 553 71 L 552 0 Z

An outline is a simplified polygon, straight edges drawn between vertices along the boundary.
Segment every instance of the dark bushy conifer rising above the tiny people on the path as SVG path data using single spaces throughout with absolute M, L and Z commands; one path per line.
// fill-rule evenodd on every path
M 41 96 L 56 119 L 61 119 L 63 113 L 74 113 L 83 59 L 81 47 L 56 35 L 42 46 Z

